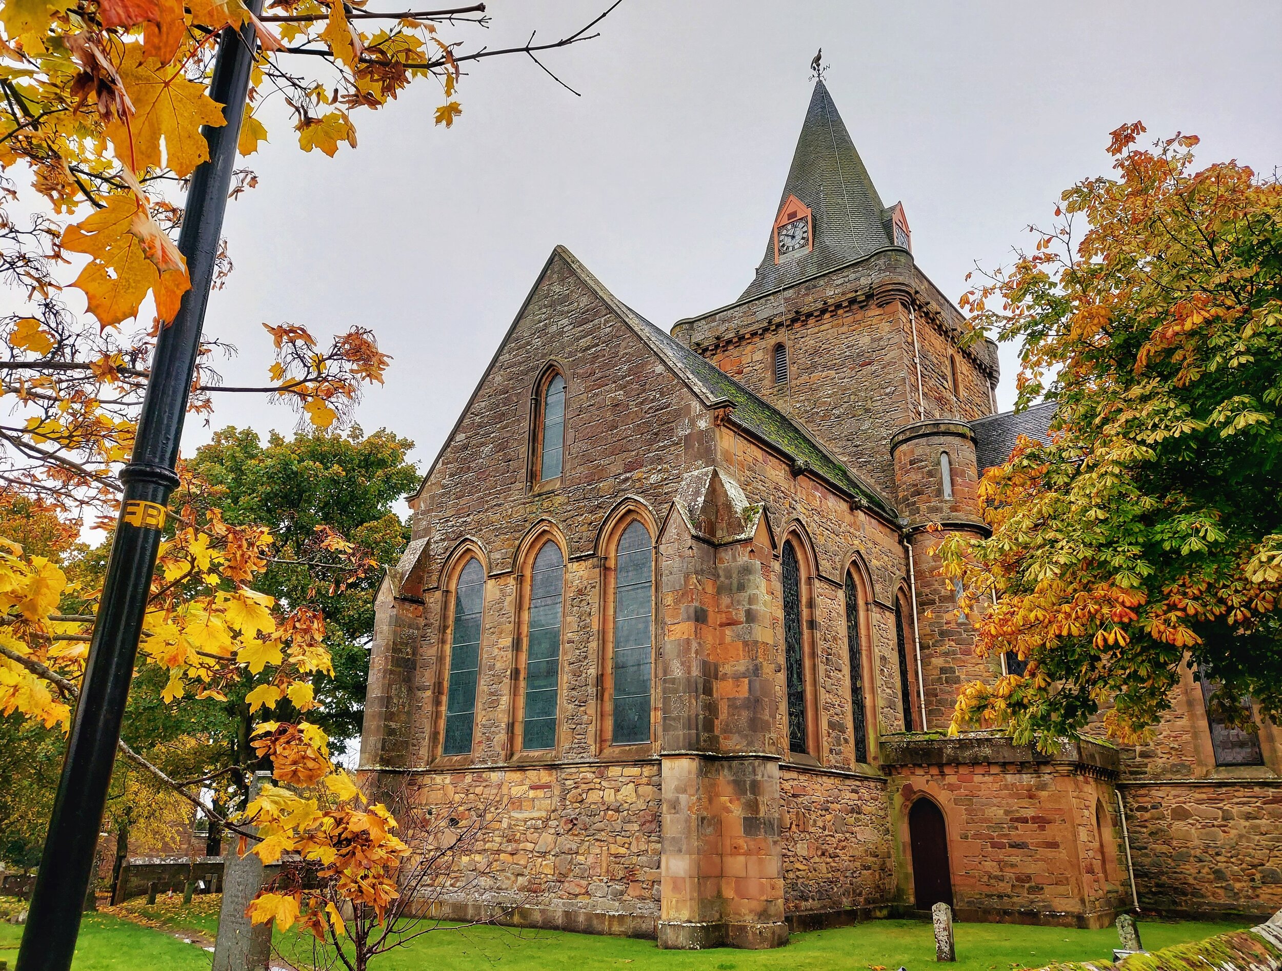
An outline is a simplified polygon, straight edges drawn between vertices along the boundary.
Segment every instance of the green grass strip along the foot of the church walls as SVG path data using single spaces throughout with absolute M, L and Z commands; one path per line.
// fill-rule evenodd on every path
M 1142 922 L 1145 947 L 1158 949 L 1242 924 Z M 1009 924 L 958 924 L 956 971 L 1011 971 L 1055 961 L 1110 961 L 1118 935 L 1104 930 L 1028 927 Z M 288 951 L 285 952 L 288 956 Z M 659 951 L 653 942 L 506 927 L 442 927 L 376 958 L 377 971 L 927 971 L 935 966 L 931 925 L 920 921 L 869 921 L 853 927 L 794 934 L 777 951 Z

